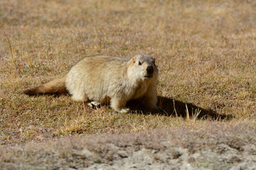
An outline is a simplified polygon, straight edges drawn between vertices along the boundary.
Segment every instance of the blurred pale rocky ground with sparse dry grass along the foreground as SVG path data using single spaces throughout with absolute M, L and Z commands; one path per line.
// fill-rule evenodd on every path
M 63 138 L 3 148 L 1 169 L 256 169 L 250 123 Z

